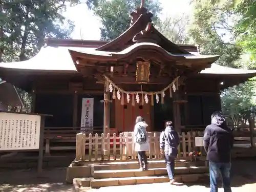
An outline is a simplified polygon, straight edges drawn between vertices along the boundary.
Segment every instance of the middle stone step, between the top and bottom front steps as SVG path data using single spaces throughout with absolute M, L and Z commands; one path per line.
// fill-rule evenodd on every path
M 208 173 L 209 168 L 206 166 L 189 166 L 175 167 L 175 174 L 199 174 Z M 164 168 L 149 168 L 141 171 L 139 169 L 118 169 L 118 170 L 95 170 L 93 176 L 95 179 L 105 178 L 123 178 L 123 177 L 144 177 L 144 176 L 160 176 L 167 175 L 166 167 Z

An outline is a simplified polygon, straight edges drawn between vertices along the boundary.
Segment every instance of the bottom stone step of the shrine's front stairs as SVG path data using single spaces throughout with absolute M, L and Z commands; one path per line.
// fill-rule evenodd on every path
M 191 183 L 207 177 L 208 174 L 186 174 L 176 175 L 176 182 Z M 168 176 L 145 176 L 145 177 L 124 177 L 124 178 L 106 178 L 106 179 L 92 179 L 92 178 L 75 178 L 73 184 L 76 188 L 79 187 L 106 187 L 118 185 L 135 185 L 145 183 L 164 183 L 169 182 Z

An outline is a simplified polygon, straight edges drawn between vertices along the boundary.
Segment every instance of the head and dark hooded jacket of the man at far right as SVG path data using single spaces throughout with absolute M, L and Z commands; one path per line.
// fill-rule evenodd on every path
M 233 136 L 224 117 L 212 117 L 211 124 L 205 128 L 203 140 L 207 160 L 211 162 L 230 162 Z

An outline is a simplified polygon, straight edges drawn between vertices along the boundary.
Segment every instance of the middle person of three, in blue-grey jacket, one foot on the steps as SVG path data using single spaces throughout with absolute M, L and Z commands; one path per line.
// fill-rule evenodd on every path
M 178 155 L 178 146 L 180 144 L 180 137 L 172 126 L 172 121 L 167 121 L 165 130 L 160 135 L 160 150 L 161 154 L 165 154 L 166 169 L 170 184 L 174 180 L 175 158 Z

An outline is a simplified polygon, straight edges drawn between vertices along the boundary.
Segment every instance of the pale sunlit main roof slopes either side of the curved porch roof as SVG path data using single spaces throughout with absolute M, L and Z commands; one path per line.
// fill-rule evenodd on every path
M 87 45 L 83 45 L 83 47 L 78 47 L 72 45 L 68 45 L 65 43 L 66 40 L 74 41 L 70 39 L 56 39 L 57 41 L 62 41 L 59 46 L 55 46 L 50 44 L 50 46 L 42 47 L 38 54 L 31 59 L 26 61 L 17 61 L 17 62 L 1 62 L 0 63 L 0 72 L 13 71 L 13 73 L 17 72 L 29 72 L 33 73 L 37 72 L 63 72 L 63 73 L 78 73 L 74 62 L 69 54 L 70 51 L 81 52 L 81 53 L 95 53 L 97 50 L 95 48 L 86 47 Z M 81 42 L 80 40 L 77 40 Z M 89 41 L 91 42 L 91 41 Z M 100 44 L 100 41 L 98 44 Z M 99 47 L 99 46 L 98 46 Z M 192 47 L 189 45 L 189 47 Z M 198 52 L 190 52 L 190 57 L 193 55 L 200 55 Z M 111 52 L 105 52 L 105 54 L 111 54 Z M 189 57 L 188 57 L 189 58 Z M 215 63 L 212 63 L 210 68 L 202 70 L 199 74 L 206 75 L 244 75 L 247 78 L 256 76 L 256 70 L 246 70 L 246 69 L 234 69 L 219 66 Z

